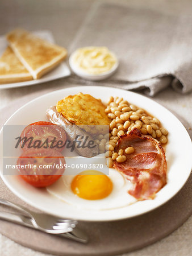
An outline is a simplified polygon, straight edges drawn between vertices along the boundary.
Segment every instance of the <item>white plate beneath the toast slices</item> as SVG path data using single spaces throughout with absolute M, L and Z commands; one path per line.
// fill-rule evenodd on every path
M 55 43 L 52 33 L 50 31 L 35 31 L 35 35 L 47 40 L 50 43 Z M 0 36 L 0 56 L 5 51 L 7 47 L 7 41 L 5 36 Z M 61 79 L 62 77 L 70 76 L 70 69 L 68 65 L 63 61 L 57 68 L 48 72 L 46 75 L 37 80 L 25 81 L 25 82 L 11 82 L 10 84 L 0 84 L 0 89 L 9 89 L 22 86 L 30 86 L 35 84 L 43 84 L 43 82 L 48 82 L 56 79 Z

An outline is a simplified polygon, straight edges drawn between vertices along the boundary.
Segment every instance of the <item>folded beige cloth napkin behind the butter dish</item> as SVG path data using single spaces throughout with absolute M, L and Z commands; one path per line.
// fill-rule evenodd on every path
M 120 61 L 118 72 L 97 84 L 142 90 L 150 96 L 172 85 L 192 90 L 192 16 L 174 15 L 144 7 L 97 2 L 74 39 L 78 47 L 107 46 Z M 69 80 L 93 82 L 73 75 Z M 95 83 L 95 82 L 94 82 Z

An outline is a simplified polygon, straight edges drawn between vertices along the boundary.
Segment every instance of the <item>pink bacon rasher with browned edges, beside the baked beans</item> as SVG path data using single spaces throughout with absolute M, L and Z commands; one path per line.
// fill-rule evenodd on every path
M 138 200 L 153 199 L 166 184 L 165 152 L 158 141 L 141 135 L 136 128 L 119 139 L 115 151 L 124 151 L 127 147 L 134 147 L 135 151 L 130 155 L 124 152 L 126 162 L 115 161 L 114 167 L 132 181 L 130 195 Z

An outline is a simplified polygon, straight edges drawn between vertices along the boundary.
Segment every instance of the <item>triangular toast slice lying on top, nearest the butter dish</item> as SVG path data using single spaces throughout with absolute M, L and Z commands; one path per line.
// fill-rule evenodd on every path
M 7 34 L 7 41 L 34 79 L 39 79 L 55 68 L 67 55 L 65 48 L 48 43 L 20 28 Z

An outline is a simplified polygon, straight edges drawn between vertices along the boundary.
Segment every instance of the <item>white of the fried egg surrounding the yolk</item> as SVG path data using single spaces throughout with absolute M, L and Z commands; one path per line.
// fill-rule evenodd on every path
M 78 162 L 88 162 L 90 163 L 102 163 L 103 168 L 95 168 L 94 170 L 101 171 L 103 174 L 106 174 L 112 181 L 113 188 L 110 195 L 105 197 L 104 199 L 99 200 L 86 200 L 78 197 L 72 192 L 71 183 L 77 174 L 82 171 L 89 170 L 89 169 L 77 169 L 77 168 L 67 168 L 68 170 L 65 171 L 65 174 L 56 181 L 56 183 L 52 184 L 51 186 L 47 187 L 47 191 L 64 201 L 65 203 L 72 204 L 77 208 L 80 209 L 89 209 L 89 210 L 106 210 L 106 209 L 115 209 L 126 207 L 129 204 L 135 203 L 137 200 L 135 197 L 128 194 L 128 190 L 131 188 L 132 183 L 128 181 L 122 174 L 118 171 L 107 168 L 105 165 L 105 156 L 101 156 L 98 158 L 82 158 L 78 157 Z M 66 160 L 66 162 L 74 162 L 74 159 L 70 158 Z M 76 159 L 77 162 L 77 159 Z M 72 169 L 72 170 L 70 170 Z M 93 170 L 91 168 L 90 170 Z M 69 175 L 72 174 L 72 175 Z

